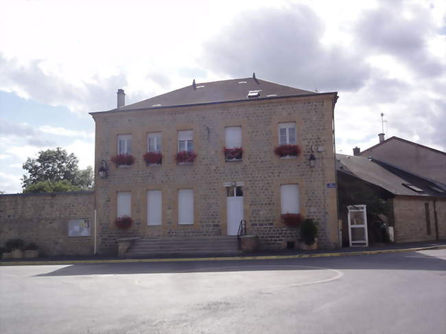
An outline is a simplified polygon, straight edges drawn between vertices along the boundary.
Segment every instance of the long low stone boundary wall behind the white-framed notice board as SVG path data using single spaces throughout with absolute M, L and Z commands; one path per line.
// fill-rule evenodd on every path
M 91 237 L 69 237 L 70 219 L 89 219 Z M 11 238 L 34 242 L 41 255 L 93 254 L 91 191 L 0 195 L 0 245 Z

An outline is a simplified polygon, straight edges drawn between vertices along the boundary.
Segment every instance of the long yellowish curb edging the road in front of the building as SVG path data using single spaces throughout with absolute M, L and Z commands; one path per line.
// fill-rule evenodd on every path
M 362 250 L 360 252 L 330 252 L 315 254 L 294 254 L 294 255 L 264 255 L 250 257 L 191 257 L 174 259 L 116 259 L 116 260 L 62 260 L 62 261 L 8 261 L 0 262 L 0 266 L 11 265 L 76 265 L 83 263 L 141 263 L 141 262 L 189 262 L 189 261 L 246 261 L 246 260 L 280 260 L 280 259 L 301 259 L 309 257 L 349 257 L 353 255 L 371 255 L 397 252 L 418 252 L 420 250 L 443 250 L 446 245 L 418 247 L 418 248 L 399 248 L 392 250 Z

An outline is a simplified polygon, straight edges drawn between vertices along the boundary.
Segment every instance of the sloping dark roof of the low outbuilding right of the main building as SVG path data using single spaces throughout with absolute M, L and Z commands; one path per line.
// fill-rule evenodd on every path
M 394 195 L 446 197 L 446 193 L 441 192 L 438 184 L 364 156 L 336 154 L 336 170 L 375 184 Z M 403 184 L 412 184 L 423 191 L 414 191 Z M 435 191 L 432 187 L 440 191 Z

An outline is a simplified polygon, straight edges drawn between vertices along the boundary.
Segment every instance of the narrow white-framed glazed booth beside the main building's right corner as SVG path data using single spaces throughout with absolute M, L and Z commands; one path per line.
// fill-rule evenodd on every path
M 349 209 L 350 247 L 368 247 L 366 206 L 364 204 L 349 205 L 347 208 Z

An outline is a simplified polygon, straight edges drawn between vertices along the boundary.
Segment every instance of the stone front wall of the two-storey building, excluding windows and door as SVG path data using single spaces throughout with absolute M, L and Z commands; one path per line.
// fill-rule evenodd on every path
M 99 252 L 116 252 L 121 237 L 174 237 L 226 235 L 226 188 L 224 182 L 244 182 L 244 219 L 250 234 L 259 235 L 263 249 L 285 248 L 296 241 L 296 228 L 281 223 L 281 184 L 298 184 L 300 211 L 319 224 L 319 245 L 338 246 L 336 182 L 333 152 L 333 108 L 336 93 L 281 99 L 247 100 L 224 104 L 201 104 L 145 110 L 93 112 L 96 123 L 96 174 L 102 159 L 108 161 L 108 177 L 95 176 L 95 202 L 99 224 Z M 279 158 L 278 126 L 295 122 L 301 155 Z M 225 162 L 225 127 L 242 127 L 243 159 Z M 198 154 L 192 165 L 177 165 L 178 131 L 193 130 Z M 147 166 L 148 132 L 162 133 L 162 165 Z M 130 167 L 117 167 L 117 136 L 132 135 Z M 316 166 L 310 167 L 311 150 Z M 147 191 L 162 191 L 163 221 L 147 224 Z M 178 224 L 178 189 L 193 189 L 192 225 Z M 115 227 L 117 192 L 130 191 L 129 230 Z

